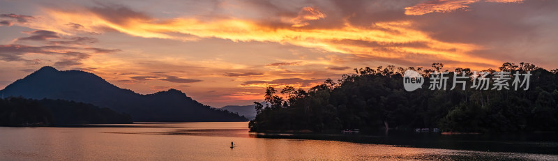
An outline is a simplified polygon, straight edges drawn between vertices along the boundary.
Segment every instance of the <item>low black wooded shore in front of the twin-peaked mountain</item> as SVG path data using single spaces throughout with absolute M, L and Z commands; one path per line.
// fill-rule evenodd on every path
M 87 123 L 132 123 L 128 114 L 67 100 L 0 99 L 0 125 L 51 126 Z

